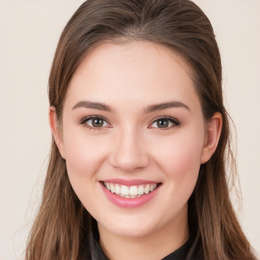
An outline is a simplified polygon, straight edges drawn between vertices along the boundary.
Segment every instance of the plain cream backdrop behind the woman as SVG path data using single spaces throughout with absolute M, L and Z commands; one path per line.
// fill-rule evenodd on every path
M 0 260 L 23 259 L 50 147 L 48 74 L 61 30 L 82 2 L 0 0 Z M 260 252 L 260 1 L 195 2 L 222 55 L 226 107 L 237 128 L 238 215 Z

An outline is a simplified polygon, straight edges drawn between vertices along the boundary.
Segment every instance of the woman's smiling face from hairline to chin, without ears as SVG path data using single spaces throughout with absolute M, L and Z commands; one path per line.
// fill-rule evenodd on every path
M 100 229 L 141 237 L 186 221 L 207 156 L 189 71 L 167 47 L 133 42 L 94 48 L 74 74 L 58 147 Z

